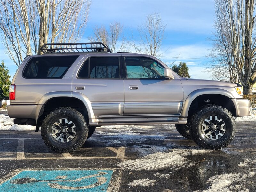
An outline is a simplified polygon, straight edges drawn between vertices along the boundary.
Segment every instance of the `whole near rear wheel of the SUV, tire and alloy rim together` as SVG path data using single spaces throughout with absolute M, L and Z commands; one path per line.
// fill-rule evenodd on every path
M 74 108 L 60 107 L 50 112 L 42 123 L 44 143 L 58 153 L 80 148 L 88 135 L 84 116 Z

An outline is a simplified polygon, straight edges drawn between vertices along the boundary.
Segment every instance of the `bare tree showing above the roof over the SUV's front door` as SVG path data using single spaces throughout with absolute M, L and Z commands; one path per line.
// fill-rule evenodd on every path
M 165 27 L 166 25 L 163 24 L 160 13 L 149 14 L 145 23 L 139 28 L 139 41 L 132 38 L 128 43 L 137 53 L 159 56 Z

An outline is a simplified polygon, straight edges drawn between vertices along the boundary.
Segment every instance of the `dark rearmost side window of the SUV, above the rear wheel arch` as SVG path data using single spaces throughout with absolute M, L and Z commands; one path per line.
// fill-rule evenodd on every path
M 23 76 L 32 79 L 60 79 L 78 56 L 34 57 L 28 61 Z

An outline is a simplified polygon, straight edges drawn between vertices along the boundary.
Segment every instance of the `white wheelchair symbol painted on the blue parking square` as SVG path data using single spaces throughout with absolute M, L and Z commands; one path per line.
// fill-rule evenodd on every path
M 19 179 L 12 180 L 11 183 L 12 184 L 26 184 L 26 183 L 33 183 L 33 182 L 47 182 L 49 187 L 55 188 L 55 189 L 66 189 L 66 190 L 90 189 L 90 188 L 98 187 L 107 182 L 107 178 L 102 177 L 102 175 L 105 175 L 108 173 L 102 172 L 102 171 L 98 171 L 97 173 L 98 174 L 80 177 L 75 180 L 65 180 L 67 176 L 57 176 L 55 178 L 55 179 L 62 179 L 62 180 L 36 180 L 35 178 L 26 177 L 26 178 L 19 178 Z M 60 185 L 57 183 L 57 182 L 81 182 L 81 180 L 92 178 L 92 177 L 96 177 L 96 179 L 98 181 L 94 184 L 87 185 L 87 186 L 73 187 L 73 186 L 64 186 L 64 185 Z

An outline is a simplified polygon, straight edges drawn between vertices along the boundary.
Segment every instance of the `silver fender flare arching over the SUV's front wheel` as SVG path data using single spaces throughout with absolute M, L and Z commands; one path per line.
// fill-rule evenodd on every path
M 204 88 L 204 89 L 197 89 L 193 92 L 191 92 L 188 97 L 186 98 L 184 104 L 183 104 L 183 108 L 181 111 L 181 117 L 187 117 L 188 116 L 188 111 L 189 108 L 192 104 L 192 102 L 196 99 L 196 97 L 200 96 L 200 95 L 208 95 L 208 94 L 216 94 L 216 95 L 223 95 L 228 97 L 229 99 L 233 99 L 234 96 L 228 92 L 225 89 L 219 89 L 219 88 Z M 232 100 L 234 103 L 234 100 Z M 234 103 L 234 106 L 236 108 L 236 104 Z

